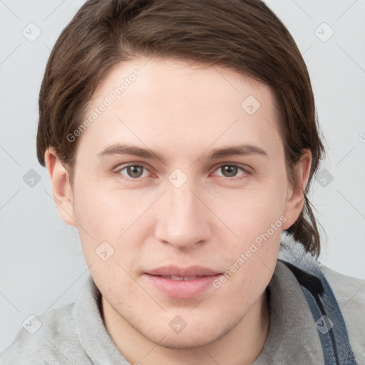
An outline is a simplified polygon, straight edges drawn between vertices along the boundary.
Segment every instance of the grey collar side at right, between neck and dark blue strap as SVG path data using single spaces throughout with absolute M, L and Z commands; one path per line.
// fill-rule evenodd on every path
M 307 299 L 283 262 L 277 261 L 268 291 L 269 334 L 252 365 L 324 364 L 321 341 Z

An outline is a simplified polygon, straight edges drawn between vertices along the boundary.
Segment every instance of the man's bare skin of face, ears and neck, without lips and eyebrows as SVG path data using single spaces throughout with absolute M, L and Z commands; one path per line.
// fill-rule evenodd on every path
M 269 331 L 265 288 L 280 233 L 302 211 L 310 152 L 295 168 L 298 183 L 291 187 L 269 88 L 227 68 L 173 58 L 116 65 L 98 86 L 86 117 L 135 68 L 140 77 L 78 137 L 72 185 L 54 150 L 46 151 L 58 210 L 78 229 L 102 294 L 106 329 L 130 364 L 251 364 Z M 252 115 L 241 107 L 248 96 L 261 103 Z M 116 142 L 147 146 L 168 160 L 98 158 Z M 267 156 L 207 158 L 213 148 L 242 143 Z M 146 170 L 133 180 L 120 170 L 126 165 Z M 227 175 L 225 165 L 247 172 Z M 168 180 L 177 168 L 187 177 L 180 187 Z M 176 299 L 143 277 L 168 264 L 225 272 L 279 217 L 286 219 L 282 226 L 218 289 Z M 104 241 L 114 250 L 106 261 L 96 255 Z M 178 334 L 169 326 L 176 315 L 187 324 Z

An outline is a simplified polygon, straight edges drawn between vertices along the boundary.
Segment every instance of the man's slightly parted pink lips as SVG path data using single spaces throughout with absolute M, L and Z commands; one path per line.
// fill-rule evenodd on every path
M 196 297 L 212 287 L 212 281 L 222 273 L 201 266 L 181 268 L 159 267 L 149 270 L 143 277 L 160 294 L 177 299 Z

